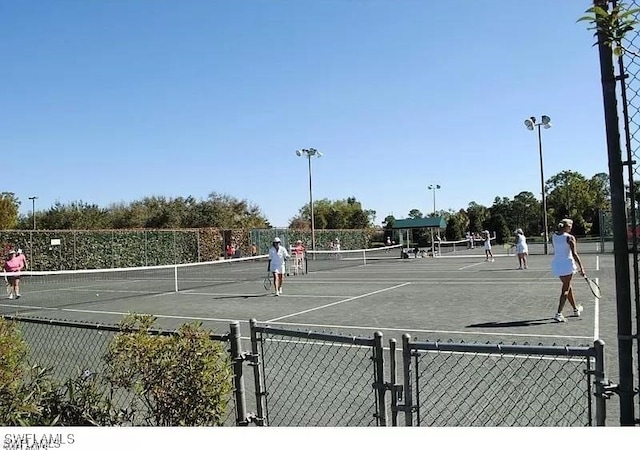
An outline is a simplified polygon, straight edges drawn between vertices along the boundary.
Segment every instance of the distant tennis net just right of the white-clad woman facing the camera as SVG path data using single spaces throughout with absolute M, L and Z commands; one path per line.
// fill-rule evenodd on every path
M 308 273 L 343 267 L 366 266 L 381 261 L 399 260 L 401 253 L 402 245 L 359 250 L 307 250 L 305 252 L 305 270 Z

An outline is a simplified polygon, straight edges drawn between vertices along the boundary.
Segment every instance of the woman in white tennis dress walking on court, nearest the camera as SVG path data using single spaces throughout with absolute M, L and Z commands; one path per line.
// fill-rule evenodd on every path
M 560 292 L 560 301 L 558 302 L 558 312 L 553 316 L 556 322 L 566 322 L 567 319 L 562 315 L 562 310 L 567 300 L 573 306 L 573 315 L 579 317 L 582 312 L 582 305 L 576 303 L 573 296 L 573 287 L 571 281 L 573 274 L 576 272 L 576 263 L 580 267 L 580 275 L 584 276 L 584 266 L 578 256 L 576 249 L 576 238 L 570 234 L 573 227 L 573 220 L 563 219 L 557 226 L 556 232 L 552 235 L 552 244 L 554 249 L 553 260 L 551 261 L 551 272 L 553 275 L 560 277 L 562 282 L 562 291 Z

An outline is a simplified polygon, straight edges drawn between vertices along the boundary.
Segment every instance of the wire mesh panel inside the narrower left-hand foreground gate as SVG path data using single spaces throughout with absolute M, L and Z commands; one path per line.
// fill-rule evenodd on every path
M 260 333 L 268 425 L 376 425 L 372 346 L 276 333 Z

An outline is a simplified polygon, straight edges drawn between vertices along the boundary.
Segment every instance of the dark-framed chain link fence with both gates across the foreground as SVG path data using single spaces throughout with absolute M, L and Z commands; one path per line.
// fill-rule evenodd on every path
M 109 342 L 120 332 L 93 323 L 3 318 L 19 323 L 30 363 L 50 367 L 62 381 L 100 375 Z M 250 351 L 242 350 L 238 322 L 229 334 L 210 336 L 223 343 L 233 368 L 226 426 L 605 424 L 601 341 L 592 347 L 498 345 L 412 342 L 404 335 L 402 349 L 393 339 L 385 349 L 379 332 L 366 338 L 255 320 L 249 325 Z M 117 391 L 114 401 L 126 406 L 132 395 Z

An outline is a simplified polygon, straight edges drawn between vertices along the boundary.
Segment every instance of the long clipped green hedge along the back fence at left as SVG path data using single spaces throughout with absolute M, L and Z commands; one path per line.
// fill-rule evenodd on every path
M 378 233 L 379 234 L 379 233 Z M 29 270 L 80 270 L 114 267 L 160 266 L 224 257 L 231 238 L 242 256 L 255 243 L 258 254 L 266 254 L 274 237 L 285 245 L 300 239 L 311 249 L 309 230 L 270 228 L 261 230 L 219 230 L 216 228 L 177 230 L 0 230 L 0 245 L 22 248 Z M 340 239 L 343 250 L 369 248 L 378 236 L 375 230 L 316 230 L 316 249 L 328 250 Z

